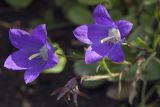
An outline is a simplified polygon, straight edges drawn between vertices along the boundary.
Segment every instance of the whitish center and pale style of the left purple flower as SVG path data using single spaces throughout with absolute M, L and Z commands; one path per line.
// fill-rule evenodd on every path
M 35 54 L 33 54 L 33 55 L 31 55 L 28 59 L 29 60 L 32 60 L 32 59 L 34 59 L 34 58 L 36 58 L 36 57 L 42 57 L 42 59 L 44 60 L 44 61 L 47 61 L 48 60 L 48 48 L 47 48 L 47 46 L 46 45 L 44 45 L 41 49 L 40 49 L 40 52 L 39 53 L 35 53 Z

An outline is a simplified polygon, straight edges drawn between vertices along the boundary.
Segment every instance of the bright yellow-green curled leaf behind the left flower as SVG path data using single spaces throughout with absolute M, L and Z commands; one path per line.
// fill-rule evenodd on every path
M 63 50 L 59 47 L 58 44 L 53 44 L 53 47 L 56 48 L 56 52 L 55 52 L 55 53 L 56 53 L 56 55 L 58 56 L 59 62 L 58 62 L 58 64 L 57 64 L 55 67 L 50 68 L 50 69 L 47 69 L 47 70 L 44 71 L 43 73 L 60 73 L 60 72 L 63 71 L 63 69 L 64 69 L 64 67 L 65 67 L 65 65 L 66 65 L 67 59 L 66 59 L 66 57 L 65 57 L 65 55 L 64 55 Z M 58 53 L 58 54 L 57 54 L 57 53 Z M 63 55 L 63 56 L 61 56 L 61 55 L 59 55 L 59 54 L 61 54 L 61 55 Z

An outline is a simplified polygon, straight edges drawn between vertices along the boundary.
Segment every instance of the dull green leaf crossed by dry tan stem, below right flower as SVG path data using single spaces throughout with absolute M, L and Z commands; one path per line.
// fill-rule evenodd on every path
M 84 61 L 77 61 L 74 64 L 74 72 L 76 75 L 79 76 L 96 76 L 98 74 L 103 74 L 103 72 L 99 71 L 98 73 L 96 72 L 98 64 L 90 64 L 87 65 L 84 63 Z M 106 79 L 101 79 L 101 80 L 85 80 L 82 81 L 82 85 L 87 87 L 87 88 L 96 88 L 100 85 L 102 85 Z

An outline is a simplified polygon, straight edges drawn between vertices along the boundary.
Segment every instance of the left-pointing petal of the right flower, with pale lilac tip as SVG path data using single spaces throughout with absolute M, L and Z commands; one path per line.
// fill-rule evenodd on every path
M 98 24 L 81 25 L 74 30 L 74 35 L 86 44 L 100 43 L 101 39 L 107 37 L 107 29 L 106 26 Z

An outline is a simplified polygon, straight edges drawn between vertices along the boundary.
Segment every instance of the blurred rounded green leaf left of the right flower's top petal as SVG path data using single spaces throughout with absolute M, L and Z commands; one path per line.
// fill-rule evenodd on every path
M 75 24 L 92 23 L 92 14 L 82 6 L 73 6 L 67 11 L 68 19 Z

